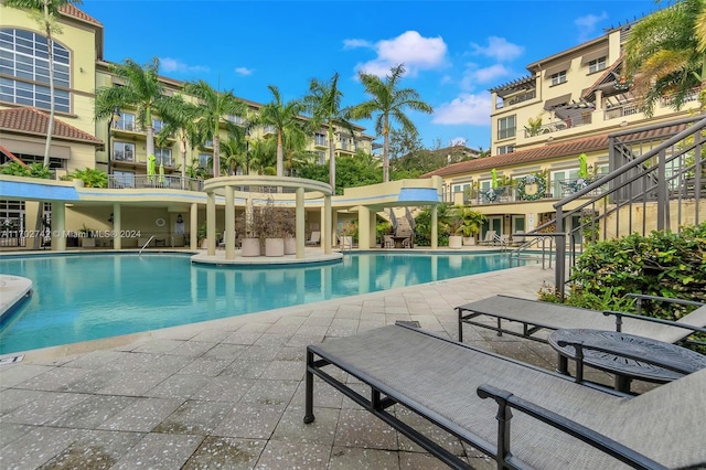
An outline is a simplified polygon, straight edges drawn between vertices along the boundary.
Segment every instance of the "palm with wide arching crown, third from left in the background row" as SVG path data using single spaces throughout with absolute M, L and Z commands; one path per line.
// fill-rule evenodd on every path
M 235 132 L 236 126 L 228 120 L 228 116 L 245 116 L 247 106 L 238 99 L 232 90 L 216 92 L 204 81 L 190 82 L 184 85 L 184 92 L 199 99 L 196 128 L 199 135 L 213 140 L 213 175 L 221 175 L 221 125 L 227 132 Z

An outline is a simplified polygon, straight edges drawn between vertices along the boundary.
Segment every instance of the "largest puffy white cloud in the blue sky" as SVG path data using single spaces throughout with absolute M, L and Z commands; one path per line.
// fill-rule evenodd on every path
M 363 40 L 356 43 L 366 43 Z M 377 57 L 357 64 L 355 70 L 377 76 L 385 76 L 398 64 L 405 64 L 407 73 L 416 75 L 419 71 L 438 68 L 446 63 L 447 45 L 441 36 L 422 38 L 416 31 L 407 31 L 391 40 L 376 42 L 372 47 Z

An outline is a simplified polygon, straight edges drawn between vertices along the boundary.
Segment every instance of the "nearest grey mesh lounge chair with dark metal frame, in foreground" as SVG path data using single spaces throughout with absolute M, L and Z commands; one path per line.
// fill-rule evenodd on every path
M 335 378 L 336 368 L 370 386 L 370 396 L 356 392 L 357 382 L 354 389 Z M 468 461 L 388 408 L 405 406 L 491 456 L 499 469 L 706 464 L 706 370 L 631 397 L 419 329 L 388 325 L 308 346 L 304 423 L 314 420 L 314 375 L 452 468 L 469 468 Z M 494 402 L 483 399 L 489 397 Z

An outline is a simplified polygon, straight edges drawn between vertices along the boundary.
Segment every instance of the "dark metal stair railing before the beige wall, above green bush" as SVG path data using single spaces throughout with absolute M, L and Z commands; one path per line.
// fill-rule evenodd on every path
M 586 243 L 633 233 L 678 232 L 706 218 L 703 115 L 612 133 L 608 141 L 613 170 L 554 204 L 555 232 L 564 234 L 557 237 L 556 259 L 567 260 L 556 265 L 555 282 L 561 296 Z M 599 195 L 586 197 L 599 188 Z

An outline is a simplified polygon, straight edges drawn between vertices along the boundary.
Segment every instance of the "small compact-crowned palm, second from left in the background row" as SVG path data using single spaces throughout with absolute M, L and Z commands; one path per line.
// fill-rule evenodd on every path
M 195 121 L 197 109 L 195 105 L 185 102 L 181 95 L 168 96 L 165 99 L 167 106 L 161 115 L 164 126 L 157 136 L 157 142 L 163 146 L 169 137 L 176 137 L 179 140 L 183 184 L 186 178 L 186 148 L 194 148 L 202 141 Z

